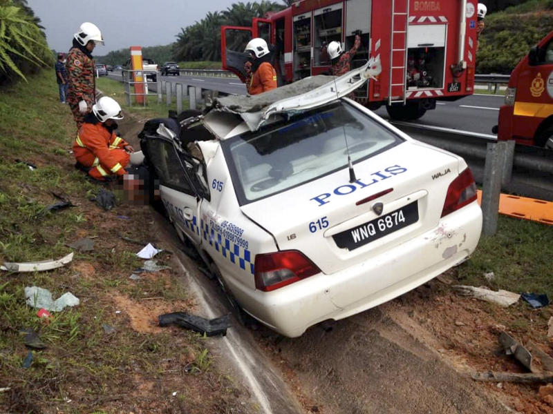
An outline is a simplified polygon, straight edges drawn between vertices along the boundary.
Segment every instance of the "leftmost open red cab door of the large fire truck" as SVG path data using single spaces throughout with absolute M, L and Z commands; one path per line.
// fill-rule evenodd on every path
M 229 70 L 246 81 L 244 63 L 248 59 L 244 49 L 247 42 L 253 39 L 252 28 L 241 26 L 221 26 L 221 59 L 223 60 L 223 70 Z

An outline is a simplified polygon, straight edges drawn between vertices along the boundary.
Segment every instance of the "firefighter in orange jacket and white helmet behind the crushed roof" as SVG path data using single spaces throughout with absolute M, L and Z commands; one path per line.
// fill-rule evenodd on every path
M 257 95 L 277 89 L 277 71 L 272 67 L 272 54 L 269 52 L 267 42 L 256 37 L 247 43 L 244 52 L 249 53 L 252 59 L 244 66 L 247 75 L 247 93 Z

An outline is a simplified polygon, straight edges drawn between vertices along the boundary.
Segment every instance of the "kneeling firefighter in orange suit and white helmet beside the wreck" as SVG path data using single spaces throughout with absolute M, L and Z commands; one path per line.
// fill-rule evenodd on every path
M 84 117 L 73 144 L 75 167 L 100 181 L 124 175 L 129 153 L 134 152 L 128 142 L 115 135 L 118 125 L 114 119 L 123 119 L 119 103 L 110 97 L 98 99 Z

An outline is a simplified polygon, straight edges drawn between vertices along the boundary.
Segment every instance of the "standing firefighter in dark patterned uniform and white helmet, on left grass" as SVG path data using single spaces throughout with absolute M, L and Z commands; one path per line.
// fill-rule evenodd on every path
M 73 37 L 73 47 L 67 54 L 68 76 L 67 103 L 77 129 L 81 128 L 84 116 L 90 113 L 96 101 L 96 82 L 92 51 L 97 43 L 104 44 L 100 29 L 93 23 L 82 23 Z

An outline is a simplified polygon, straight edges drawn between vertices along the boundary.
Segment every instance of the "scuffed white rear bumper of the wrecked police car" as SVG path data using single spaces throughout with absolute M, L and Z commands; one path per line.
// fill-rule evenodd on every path
M 245 311 L 263 324 L 297 337 L 326 319 L 342 319 L 400 296 L 463 262 L 482 228 L 477 202 L 441 219 L 409 242 L 350 268 L 308 277 L 272 292 L 229 286 Z

